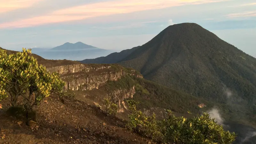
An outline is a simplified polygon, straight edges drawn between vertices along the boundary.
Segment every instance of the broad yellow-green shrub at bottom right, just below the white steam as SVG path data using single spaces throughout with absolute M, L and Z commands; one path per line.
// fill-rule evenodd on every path
M 175 117 L 167 110 L 167 118 L 159 122 L 164 142 L 176 144 L 230 144 L 235 140 L 235 133 L 224 131 L 209 114 L 196 117 Z

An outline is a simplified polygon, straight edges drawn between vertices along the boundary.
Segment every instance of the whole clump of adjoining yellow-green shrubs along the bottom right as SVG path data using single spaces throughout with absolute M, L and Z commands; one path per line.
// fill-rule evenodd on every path
M 155 114 L 145 116 L 137 110 L 138 104 L 134 100 L 127 101 L 132 114 L 127 127 L 161 143 L 168 144 L 230 144 L 235 140 L 235 133 L 224 131 L 222 125 L 217 124 L 209 114 L 189 118 L 175 117 L 171 110 L 167 110 L 166 119 L 155 120 Z M 191 114 L 191 113 L 189 113 Z

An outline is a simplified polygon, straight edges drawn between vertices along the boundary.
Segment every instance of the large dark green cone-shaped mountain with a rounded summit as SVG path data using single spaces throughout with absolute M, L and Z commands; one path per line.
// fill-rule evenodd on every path
M 95 60 L 89 62 L 100 63 Z M 256 59 L 195 23 L 165 28 L 119 64 L 140 71 L 148 80 L 207 100 L 256 102 Z

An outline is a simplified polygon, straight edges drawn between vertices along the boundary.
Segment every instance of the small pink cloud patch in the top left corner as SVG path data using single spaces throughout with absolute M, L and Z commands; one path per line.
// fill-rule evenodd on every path
M 41 0 L 0 0 L 0 13 L 30 7 Z

